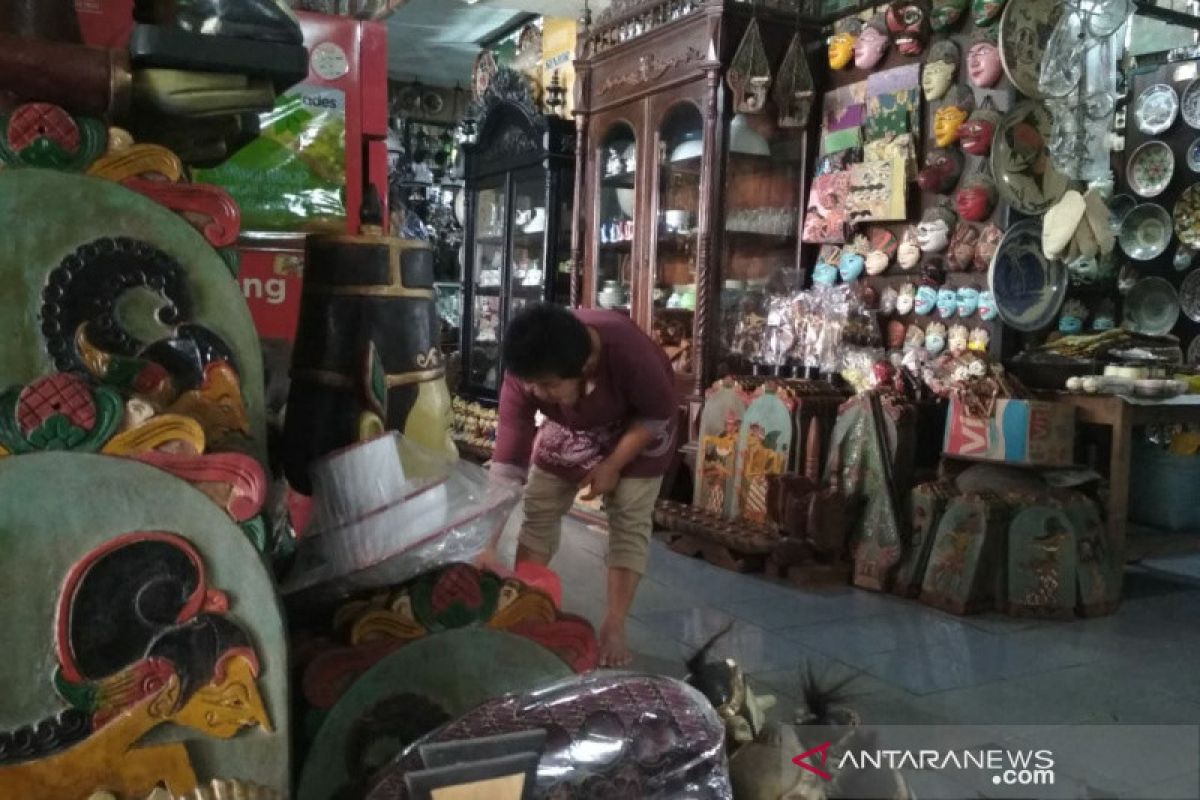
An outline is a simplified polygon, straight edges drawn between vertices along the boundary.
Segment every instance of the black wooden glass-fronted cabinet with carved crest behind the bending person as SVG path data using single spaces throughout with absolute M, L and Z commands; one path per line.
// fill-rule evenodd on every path
M 570 297 L 575 132 L 535 108 L 524 78 L 500 70 L 480 103 L 466 150 L 462 381 L 458 393 L 496 401 L 504 329 L 530 302 Z

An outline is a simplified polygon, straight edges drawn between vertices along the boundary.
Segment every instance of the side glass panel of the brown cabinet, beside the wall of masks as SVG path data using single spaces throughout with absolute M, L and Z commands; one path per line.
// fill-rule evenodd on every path
M 749 362 L 782 366 L 787 353 L 761 351 L 761 325 L 769 311 L 768 297 L 793 294 L 802 284 L 798 252 L 804 130 L 779 127 L 774 115 L 738 114 L 730 124 L 727 140 L 721 350 L 743 368 Z M 770 341 L 778 349 L 787 345 Z

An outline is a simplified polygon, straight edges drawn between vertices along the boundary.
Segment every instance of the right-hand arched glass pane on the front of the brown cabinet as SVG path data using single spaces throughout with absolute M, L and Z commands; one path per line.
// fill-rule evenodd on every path
M 650 332 L 676 374 L 695 369 L 696 258 L 703 119 L 689 102 L 671 108 L 658 131 Z

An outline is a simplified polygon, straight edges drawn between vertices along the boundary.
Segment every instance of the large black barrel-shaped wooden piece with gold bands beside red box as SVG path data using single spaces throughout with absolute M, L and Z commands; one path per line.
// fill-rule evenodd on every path
M 310 465 L 374 429 L 364 414 L 380 410 L 388 429 L 457 457 L 438 348 L 433 252 L 425 242 L 376 233 L 313 235 L 305 247 L 283 432 L 289 483 L 310 493 Z

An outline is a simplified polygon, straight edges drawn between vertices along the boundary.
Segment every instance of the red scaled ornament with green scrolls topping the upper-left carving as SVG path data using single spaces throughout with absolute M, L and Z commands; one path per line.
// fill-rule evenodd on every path
M 49 103 L 24 103 L 0 118 L 0 163 L 83 172 L 108 146 L 104 124 Z

